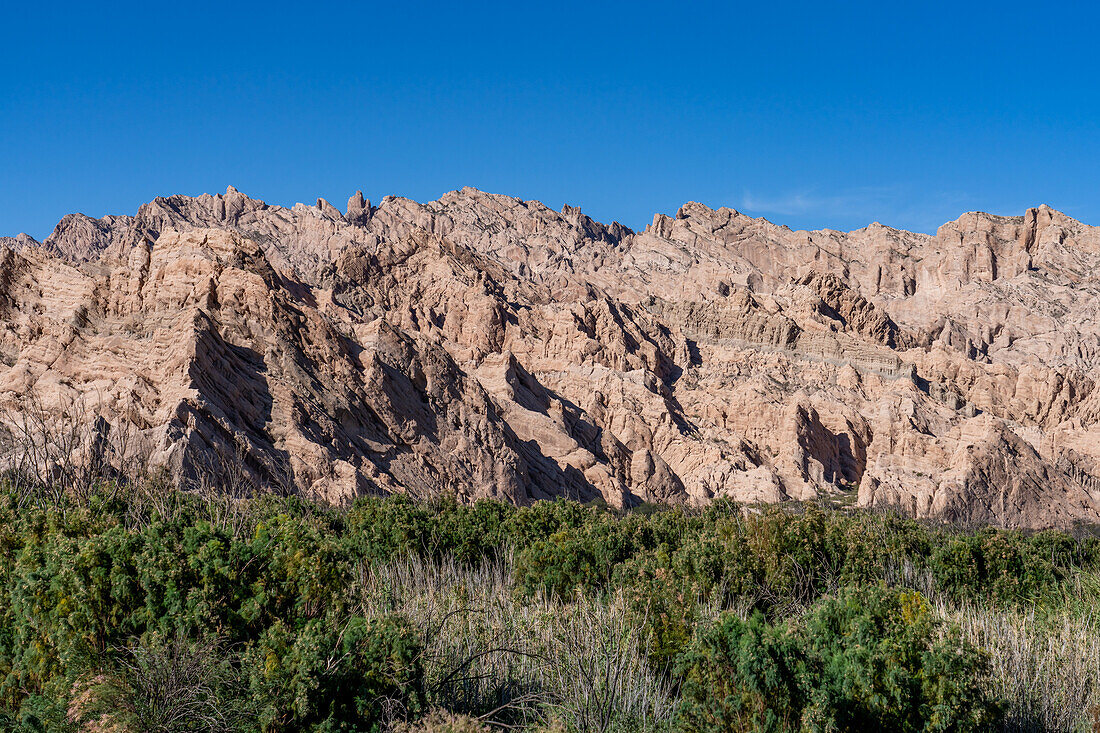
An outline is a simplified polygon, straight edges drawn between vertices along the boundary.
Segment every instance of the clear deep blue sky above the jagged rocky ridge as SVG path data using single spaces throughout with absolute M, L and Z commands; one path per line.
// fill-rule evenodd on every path
M 1041 2 L 6 2 L 0 233 L 230 184 L 341 209 L 472 185 L 635 228 L 686 200 L 1100 223 L 1098 28 Z

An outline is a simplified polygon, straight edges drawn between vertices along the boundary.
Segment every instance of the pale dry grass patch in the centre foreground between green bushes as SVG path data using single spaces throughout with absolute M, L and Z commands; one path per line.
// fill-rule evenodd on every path
M 521 599 L 510 558 L 479 567 L 409 556 L 359 570 L 365 614 L 424 635 L 429 703 L 497 725 L 664 730 L 675 697 L 617 594 Z

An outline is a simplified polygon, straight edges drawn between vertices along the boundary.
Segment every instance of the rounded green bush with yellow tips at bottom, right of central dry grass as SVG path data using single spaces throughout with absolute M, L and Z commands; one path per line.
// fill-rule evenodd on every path
M 847 590 L 798 624 L 726 615 L 684 655 L 685 731 L 985 731 L 987 663 L 917 593 Z

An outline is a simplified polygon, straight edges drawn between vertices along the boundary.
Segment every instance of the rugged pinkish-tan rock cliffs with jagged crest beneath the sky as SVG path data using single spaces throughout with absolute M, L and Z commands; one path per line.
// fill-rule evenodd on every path
M 344 214 L 230 188 L 0 240 L 0 296 L 3 402 L 90 402 L 182 475 L 1100 521 L 1100 228 L 1047 207 L 631 232 L 470 188 Z

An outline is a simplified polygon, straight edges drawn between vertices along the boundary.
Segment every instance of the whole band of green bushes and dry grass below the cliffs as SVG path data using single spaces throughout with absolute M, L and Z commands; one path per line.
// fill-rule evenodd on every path
M 1074 731 L 1100 540 L 812 504 L 0 488 L 16 731 Z

